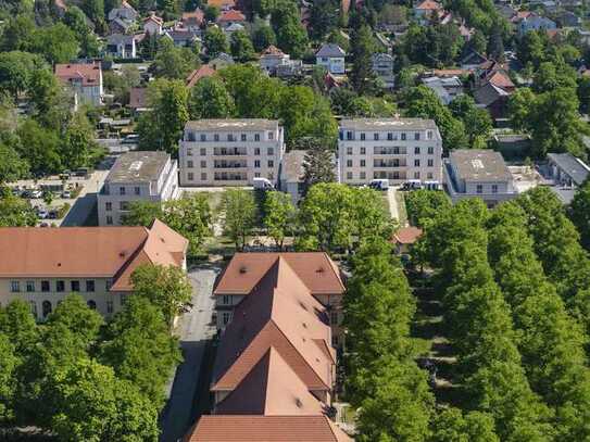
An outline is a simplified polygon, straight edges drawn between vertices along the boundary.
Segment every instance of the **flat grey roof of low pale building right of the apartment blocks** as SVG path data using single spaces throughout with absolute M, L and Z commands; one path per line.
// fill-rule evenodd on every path
M 457 178 L 466 181 L 510 181 L 512 174 L 500 152 L 487 149 L 452 151 L 450 160 Z

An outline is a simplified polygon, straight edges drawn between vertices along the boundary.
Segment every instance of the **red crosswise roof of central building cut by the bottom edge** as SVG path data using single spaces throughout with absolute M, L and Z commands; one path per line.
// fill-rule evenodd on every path
M 203 415 L 184 442 L 352 442 L 326 416 Z

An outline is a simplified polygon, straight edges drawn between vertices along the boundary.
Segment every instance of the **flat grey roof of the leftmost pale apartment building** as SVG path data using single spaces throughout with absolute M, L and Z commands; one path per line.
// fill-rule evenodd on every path
M 154 181 L 164 169 L 170 155 L 166 152 L 134 151 L 121 155 L 106 182 Z

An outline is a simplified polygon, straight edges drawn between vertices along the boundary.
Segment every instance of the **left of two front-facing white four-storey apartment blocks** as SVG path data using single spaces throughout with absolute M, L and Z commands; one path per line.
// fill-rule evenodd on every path
M 179 143 L 181 186 L 276 184 L 285 153 L 283 127 L 274 119 L 188 122 Z

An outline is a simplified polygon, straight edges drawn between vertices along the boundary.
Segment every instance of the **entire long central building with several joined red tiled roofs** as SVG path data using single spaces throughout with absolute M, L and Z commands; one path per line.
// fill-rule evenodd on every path
M 343 286 L 324 253 L 236 254 L 215 289 L 237 303 L 215 357 L 213 414 L 184 441 L 352 442 L 328 417 L 334 311 L 317 298 L 335 291 Z

